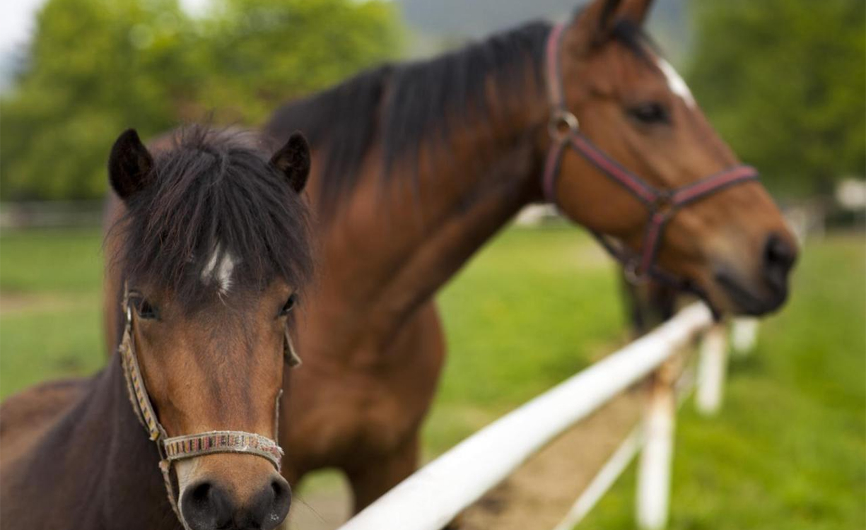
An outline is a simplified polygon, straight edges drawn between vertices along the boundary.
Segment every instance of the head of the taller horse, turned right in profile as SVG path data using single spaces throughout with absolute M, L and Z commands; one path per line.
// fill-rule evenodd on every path
M 636 255 L 643 253 L 644 265 L 685 281 L 717 311 L 772 311 L 785 301 L 796 243 L 765 189 L 742 179 L 750 177 L 749 170 L 729 171 L 739 165 L 734 152 L 708 124 L 682 78 L 643 36 L 650 3 L 590 3 L 548 49 L 559 80 L 547 68 L 548 84 L 562 87 L 562 106 L 577 119 L 553 116 L 553 137 L 574 127 L 643 182 L 630 183 L 635 189 L 629 190 L 604 175 L 591 156 L 565 148 L 550 192 L 566 215 Z M 713 175 L 731 182 L 711 178 L 684 188 Z M 699 193 L 707 183 L 712 189 Z M 639 197 L 640 184 L 650 184 L 660 197 Z M 666 204 L 669 191 L 683 190 L 674 195 L 682 205 Z M 652 211 L 659 214 L 656 227 L 650 223 Z M 656 228 L 653 251 L 645 247 L 656 244 L 650 242 Z

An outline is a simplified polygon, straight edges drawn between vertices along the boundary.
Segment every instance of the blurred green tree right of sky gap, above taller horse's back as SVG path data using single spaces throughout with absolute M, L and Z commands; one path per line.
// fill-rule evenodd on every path
M 201 21 L 207 43 L 203 108 L 221 121 L 260 123 L 281 102 L 397 56 L 402 39 L 388 2 L 214 0 Z

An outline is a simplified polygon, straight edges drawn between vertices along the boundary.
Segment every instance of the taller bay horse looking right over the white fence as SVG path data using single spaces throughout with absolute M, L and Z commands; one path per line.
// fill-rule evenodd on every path
M 319 274 L 281 408 L 290 483 L 341 469 L 357 511 L 416 469 L 444 360 L 433 296 L 527 204 L 719 315 L 785 301 L 793 237 L 643 33 L 651 3 L 593 0 L 274 113 L 266 133 L 302 130 L 317 161 Z

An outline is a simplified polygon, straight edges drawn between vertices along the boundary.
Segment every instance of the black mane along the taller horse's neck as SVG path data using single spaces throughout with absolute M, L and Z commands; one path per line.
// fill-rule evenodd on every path
M 325 149 L 321 206 L 333 208 L 352 191 L 359 167 L 377 142 L 385 177 L 394 165 L 414 165 L 424 141 L 446 145 L 449 131 L 482 123 L 494 134 L 488 102 L 493 81 L 500 105 L 520 105 L 542 87 L 549 23 L 528 23 L 428 61 L 388 64 L 337 87 L 278 109 L 266 126 L 277 139 L 300 129 L 313 149 Z M 527 76 L 528 74 L 528 76 Z M 534 81 L 527 84 L 527 77 Z

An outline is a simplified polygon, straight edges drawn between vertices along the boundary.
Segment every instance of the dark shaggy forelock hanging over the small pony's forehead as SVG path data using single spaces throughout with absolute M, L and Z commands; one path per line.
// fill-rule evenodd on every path
M 268 163 L 261 137 L 190 126 L 153 155 L 150 183 L 113 228 L 123 230 L 114 262 L 127 278 L 170 288 L 189 309 L 216 293 L 208 261 L 219 249 L 216 263 L 225 253 L 236 259 L 232 291 L 275 277 L 303 285 L 312 270 L 307 206 Z

